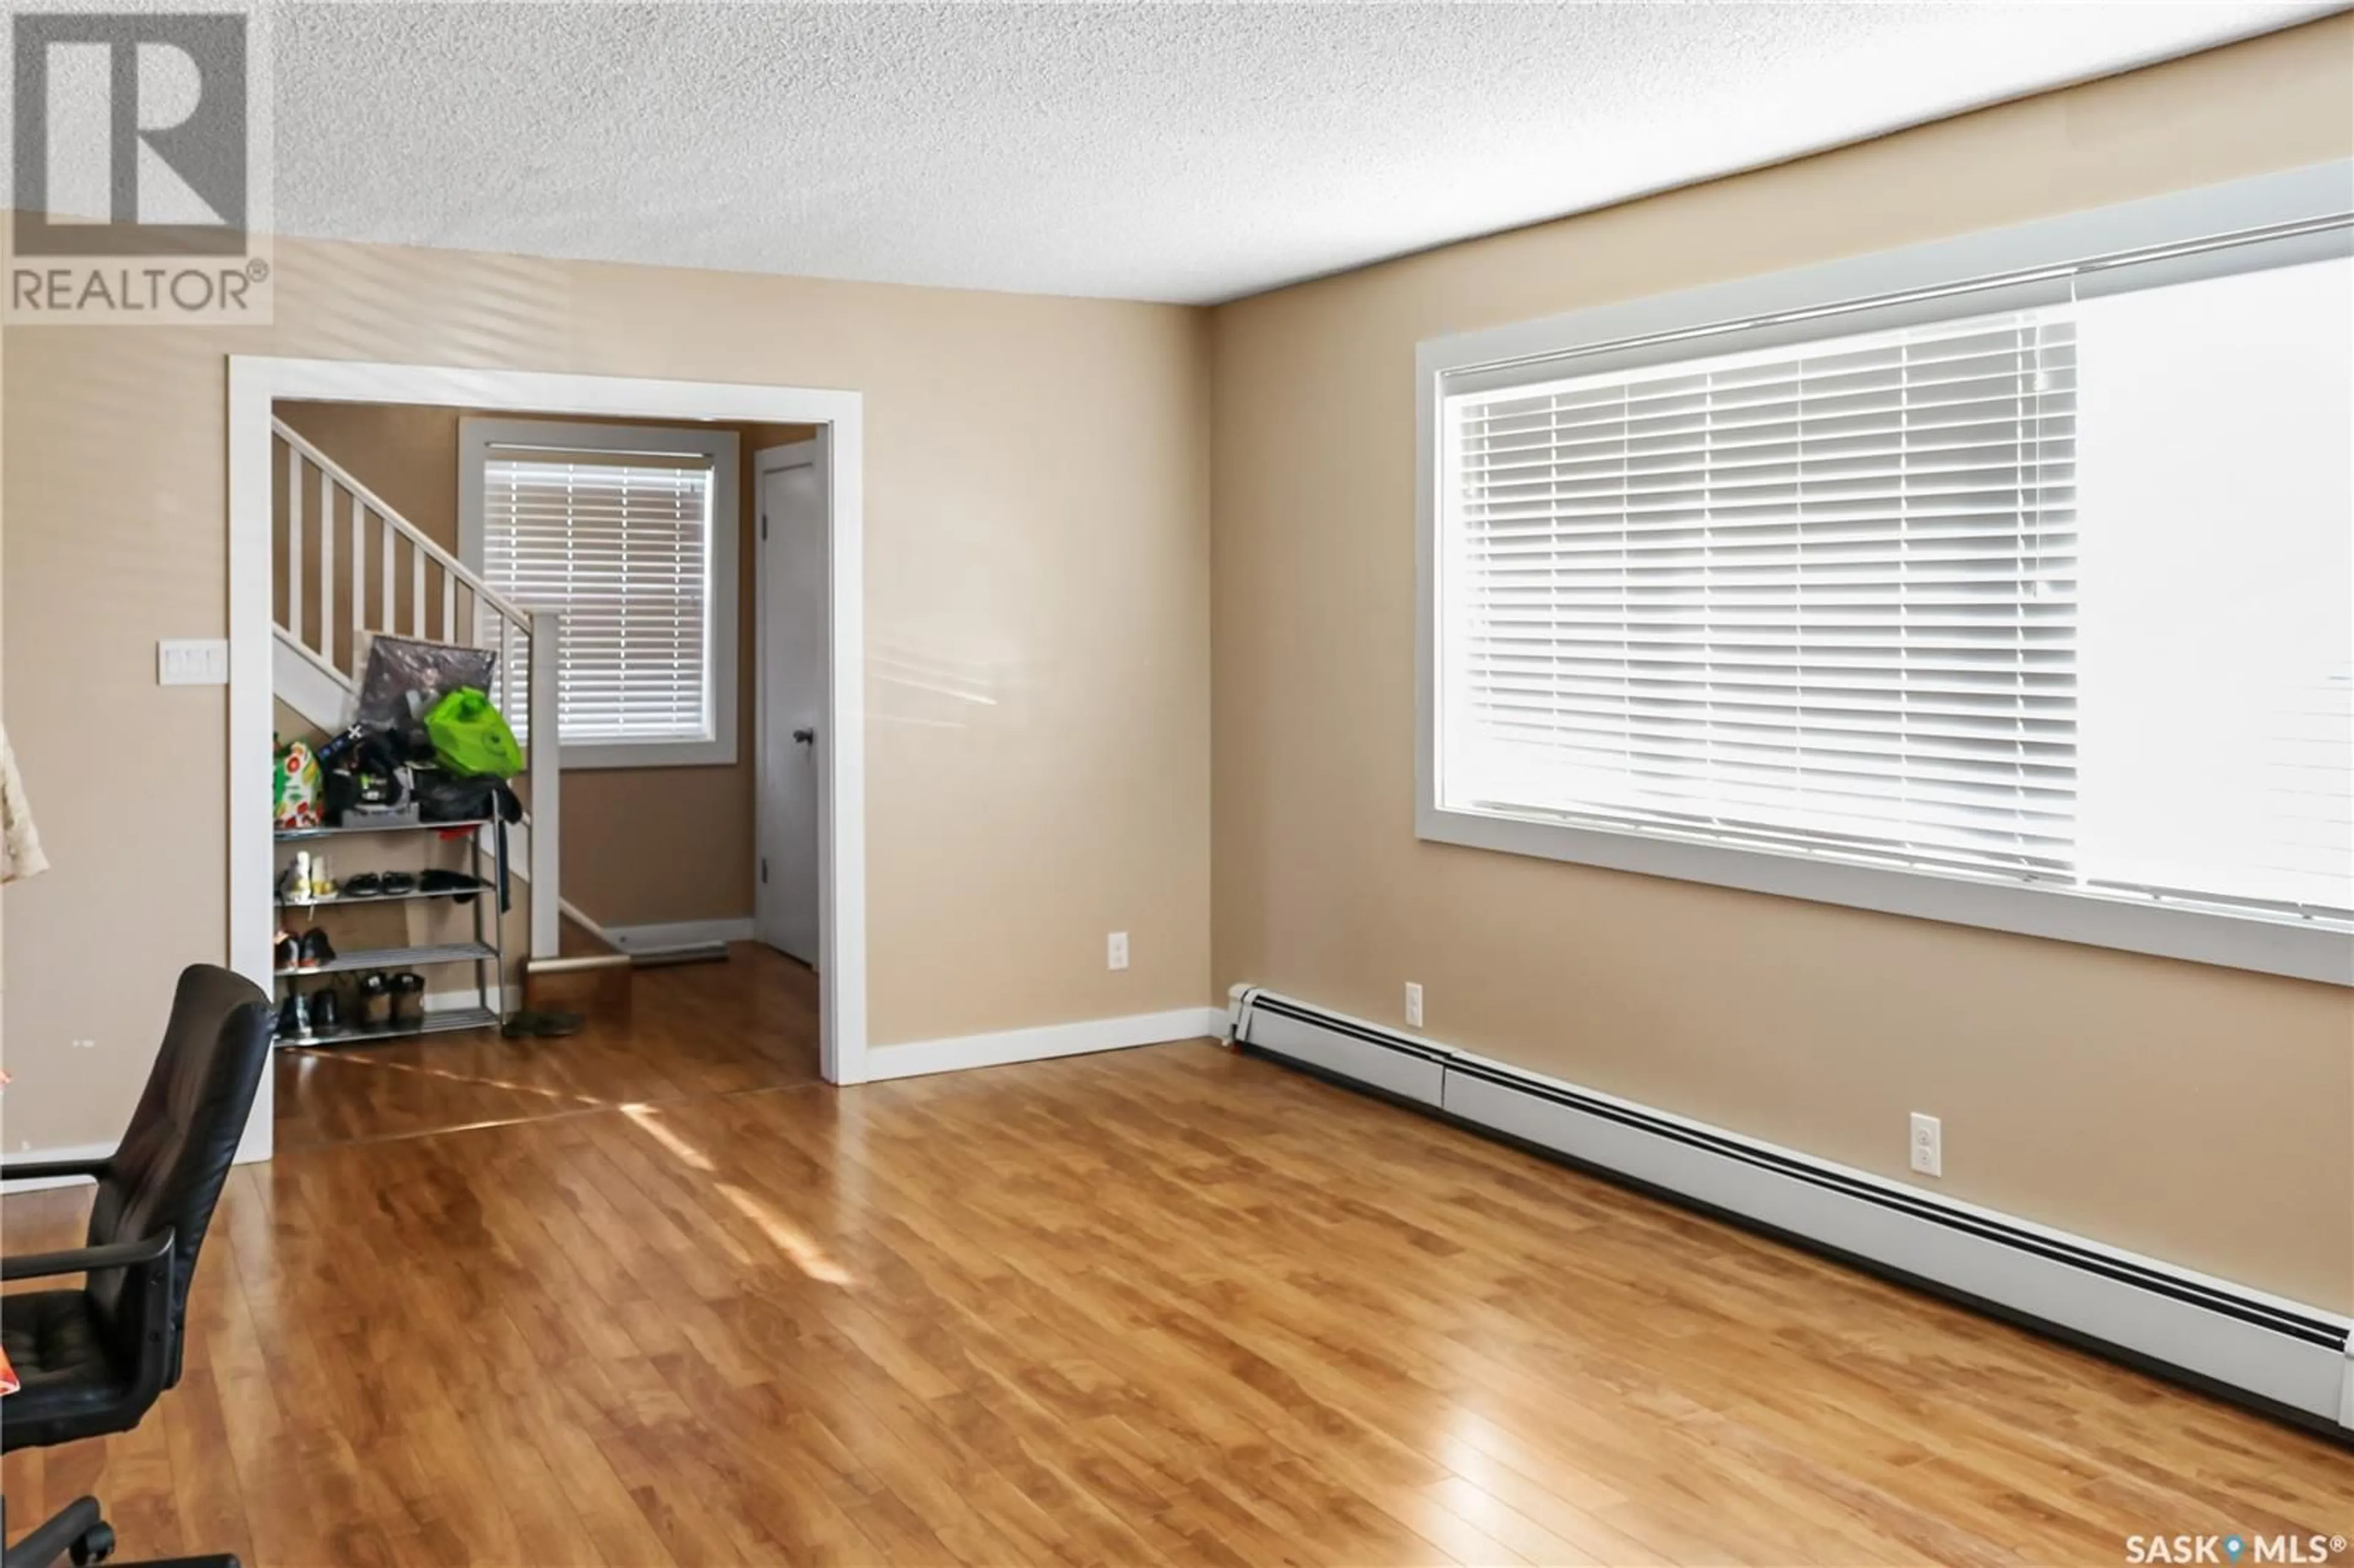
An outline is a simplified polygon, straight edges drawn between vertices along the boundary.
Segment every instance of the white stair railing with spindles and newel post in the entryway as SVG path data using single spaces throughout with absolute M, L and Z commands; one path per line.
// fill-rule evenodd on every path
M 556 657 L 563 619 L 523 610 L 311 440 L 271 419 L 275 436 L 275 603 L 280 640 L 348 687 L 360 685 L 372 636 L 487 647 L 499 676 L 492 697 L 523 699 L 508 720 L 523 737 L 530 779 L 532 958 L 558 944 L 558 817 L 563 770 L 556 739 Z M 513 676 L 520 673 L 520 680 Z

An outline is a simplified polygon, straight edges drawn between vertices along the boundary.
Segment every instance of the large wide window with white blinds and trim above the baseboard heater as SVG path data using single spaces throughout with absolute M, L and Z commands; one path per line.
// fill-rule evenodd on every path
M 1427 346 L 1424 836 L 2354 979 L 2316 174 Z

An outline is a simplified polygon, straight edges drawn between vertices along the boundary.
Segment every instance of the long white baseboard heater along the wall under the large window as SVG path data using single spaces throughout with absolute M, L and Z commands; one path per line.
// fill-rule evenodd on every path
M 2354 1441 L 2354 1323 L 1257 986 L 1236 1045 Z

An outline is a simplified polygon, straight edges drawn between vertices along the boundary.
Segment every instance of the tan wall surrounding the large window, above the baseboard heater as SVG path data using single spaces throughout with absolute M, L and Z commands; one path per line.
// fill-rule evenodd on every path
M 2342 989 L 1415 838 L 1424 337 L 2354 151 L 2333 19 L 1212 315 L 1215 970 L 2354 1307 Z

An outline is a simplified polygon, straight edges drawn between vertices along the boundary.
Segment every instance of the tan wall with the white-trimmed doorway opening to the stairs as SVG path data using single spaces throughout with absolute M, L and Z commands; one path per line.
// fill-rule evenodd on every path
M 115 1137 L 226 951 L 228 704 L 155 638 L 228 629 L 228 353 L 859 388 L 873 1043 L 1210 1001 L 1198 311 L 282 240 L 268 330 L 7 327 L 9 1149 Z

